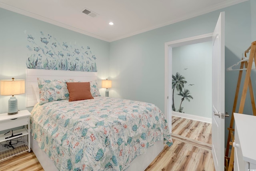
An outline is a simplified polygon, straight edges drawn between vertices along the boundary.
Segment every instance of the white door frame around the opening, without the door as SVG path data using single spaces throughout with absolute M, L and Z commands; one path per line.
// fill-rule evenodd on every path
M 172 90 L 169 88 L 172 85 L 172 48 L 197 44 L 212 41 L 213 33 L 202 34 L 190 38 L 174 40 L 164 43 L 164 115 L 168 120 L 168 126 L 172 132 Z

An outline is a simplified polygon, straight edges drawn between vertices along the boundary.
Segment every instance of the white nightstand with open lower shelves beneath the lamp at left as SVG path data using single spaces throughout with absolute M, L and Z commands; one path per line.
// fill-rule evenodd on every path
M 0 114 L 0 131 L 28 125 L 28 129 L 25 127 L 13 131 L 13 137 L 11 137 L 11 131 L 5 135 L 4 133 L 0 134 L 1 144 L 5 141 L 12 141 L 12 139 L 14 141 L 14 139 L 25 136 L 25 143 L 23 145 L 15 147 L 14 149 L 9 147 L 9 149 L 6 148 L 6 151 L 0 152 L 0 161 L 12 157 L 13 155 L 23 153 L 24 151 L 30 152 L 30 115 L 28 110 L 19 111 L 16 115 L 7 115 L 7 113 Z

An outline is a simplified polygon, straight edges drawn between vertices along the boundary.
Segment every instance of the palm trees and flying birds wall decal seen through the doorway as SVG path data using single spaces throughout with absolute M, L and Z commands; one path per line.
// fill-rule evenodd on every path
M 184 70 L 187 70 L 187 69 L 188 68 L 185 68 Z M 185 80 L 185 77 L 180 75 L 180 73 L 176 72 L 175 76 L 172 74 L 172 110 L 173 111 L 184 113 L 183 107 L 181 106 L 182 102 L 184 101 L 184 99 L 188 101 L 190 101 L 190 99 L 193 99 L 192 95 L 190 95 L 190 91 L 184 88 L 184 84 L 186 83 L 187 81 Z M 189 86 L 190 85 L 194 85 L 194 84 L 189 84 Z M 178 95 L 182 96 L 179 109 L 176 109 L 174 105 L 175 88 L 178 91 Z M 184 91 L 183 91 L 183 88 L 184 88 Z

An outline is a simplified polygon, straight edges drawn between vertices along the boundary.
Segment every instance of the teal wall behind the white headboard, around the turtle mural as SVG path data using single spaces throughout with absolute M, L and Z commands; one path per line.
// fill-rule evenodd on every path
M 46 37 L 47 34 L 50 34 L 52 38 L 56 38 L 61 46 L 63 42 L 67 42 L 73 47 L 74 45 L 84 48 L 90 46 L 92 54 L 97 58 L 95 61 L 98 69 L 98 80 L 108 78 L 109 42 L 0 8 L 0 80 L 9 80 L 12 77 L 26 79 L 26 61 L 31 56 L 31 52 L 34 52 L 34 48 L 28 42 L 28 35 L 32 34 L 34 38 L 39 38 L 35 35 L 39 35 L 41 31 Z M 32 51 L 28 50 L 27 45 L 31 46 Z M 100 81 L 99 85 L 101 85 Z M 100 88 L 102 95 L 104 95 L 104 91 Z M 32 109 L 25 107 L 26 94 L 16 95 L 16 98 L 18 99 L 19 110 Z M 8 111 L 8 99 L 10 99 L 9 96 L 0 95 L 0 113 Z

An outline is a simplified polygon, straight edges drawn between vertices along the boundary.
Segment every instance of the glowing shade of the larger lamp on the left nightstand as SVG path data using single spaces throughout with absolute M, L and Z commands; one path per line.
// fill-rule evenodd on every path
M 17 95 L 25 93 L 25 80 L 0 80 L 1 95 Z

